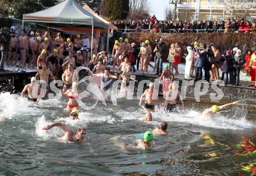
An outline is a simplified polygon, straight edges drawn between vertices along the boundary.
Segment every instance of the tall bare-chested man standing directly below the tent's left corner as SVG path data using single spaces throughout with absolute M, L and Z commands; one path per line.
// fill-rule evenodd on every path
M 22 67 L 22 69 L 27 69 L 26 60 L 27 60 L 27 55 L 29 53 L 29 48 L 30 48 L 29 38 L 30 36 L 23 36 L 23 38 L 20 40 L 20 53 L 22 55 L 22 60 L 20 61 L 20 67 Z

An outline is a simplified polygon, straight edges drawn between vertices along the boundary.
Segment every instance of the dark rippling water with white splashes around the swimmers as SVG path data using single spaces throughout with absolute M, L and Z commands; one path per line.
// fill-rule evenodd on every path
M 144 122 L 138 101 L 122 99 L 118 107 L 98 103 L 91 111 L 81 110 L 79 120 L 70 120 L 63 110 L 66 102 L 62 98 L 37 105 L 17 94 L 0 94 L 0 175 L 237 175 L 248 174 L 242 168 L 255 162 L 256 154 L 240 155 L 236 148 L 244 131 L 253 135 L 255 123 L 247 119 L 255 112 L 247 113 L 246 107 L 201 119 L 211 105 L 186 101 L 185 112 L 160 108 L 152 113 L 154 121 Z M 163 120 L 168 135 L 155 137 L 148 151 L 137 148 L 143 133 Z M 63 135 L 58 128 L 41 130 L 54 121 L 72 130 L 86 127 L 84 142 L 57 140 Z

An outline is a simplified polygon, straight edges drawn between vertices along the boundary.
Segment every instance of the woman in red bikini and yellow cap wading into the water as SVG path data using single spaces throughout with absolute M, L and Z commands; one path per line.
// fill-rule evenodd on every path
M 72 89 L 68 89 L 65 93 L 62 94 L 63 97 L 68 96 L 69 101 L 67 102 L 67 111 L 72 111 L 73 109 L 78 109 L 78 102 L 76 101 L 79 98 L 77 90 L 78 83 L 74 82 Z

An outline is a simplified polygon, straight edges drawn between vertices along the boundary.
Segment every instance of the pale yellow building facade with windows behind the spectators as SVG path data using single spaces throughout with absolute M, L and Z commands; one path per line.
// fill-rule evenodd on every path
M 225 20 L 228 17 L 236 19 L 256 19 L 256 0 L 182 0 L 173 3 L 176 9 L 176 19 L 189 20 Z M 176 6 L 176 7 L 175 7 Z

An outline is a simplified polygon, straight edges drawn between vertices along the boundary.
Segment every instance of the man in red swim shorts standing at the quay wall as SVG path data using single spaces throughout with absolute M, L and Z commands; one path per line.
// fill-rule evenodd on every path
M 163 98 L 165 98 L 166 91 L 168 91 L 169 84 L 173 82 L 173 79 L 174 75 L 172 71 L 170 71 L 169 65 L 165 64 L 165 69 L 163 70 L 162 75 L 160 76 L 160 80 L 163 80 Z

